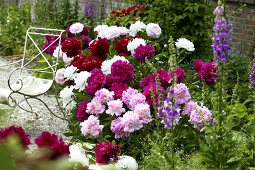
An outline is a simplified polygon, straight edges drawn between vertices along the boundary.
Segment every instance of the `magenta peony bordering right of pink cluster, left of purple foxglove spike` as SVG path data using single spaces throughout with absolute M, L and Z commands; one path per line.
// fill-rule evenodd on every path
M 162 99 L 164 99 L 165 90 L 163 87 L 158 87 L 155 82 L 151 82 L 148 86 L 143 88 L 143 95 L 146 97 L 146 101 L 150 104 L 150 106 L 154 106 L 154 103 L 158 105 L 159 94 L 158 91 L 161 93 Z

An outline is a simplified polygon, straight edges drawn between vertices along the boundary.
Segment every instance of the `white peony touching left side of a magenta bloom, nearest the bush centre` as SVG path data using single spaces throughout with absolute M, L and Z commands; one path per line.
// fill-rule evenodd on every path
M 75 89 L 79 89 L 79 91 L 84 90 L 90 75 L 91 73 L 87 71 L 82 71 L 78 73 L 77 76 L 74 78 Z

